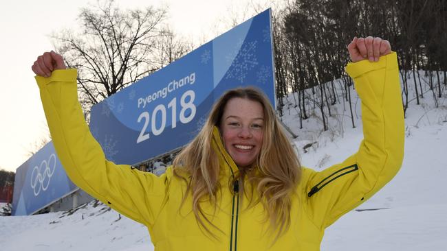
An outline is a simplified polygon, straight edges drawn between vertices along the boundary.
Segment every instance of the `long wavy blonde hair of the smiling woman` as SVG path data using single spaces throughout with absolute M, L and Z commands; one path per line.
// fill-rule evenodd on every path
M 199 134 L 180 152 L 174 160 L 174 175 L 187 182 L 186 193 L 193 196 L 193 212 L 197 222 L 213 235 L 204 222 L 212 224 L 201 209 L 200 202 L 208 199 L 217 206 L 219 185 L 219 159 L 212 148 L 212 131 L 215 126 L 220 128 L 221 117 L 227 102 L 235 97 L 257 101 L 263 106 L 264 126 L 263 143 L 257 161 L 251 167 L 239 169 L 235 179 L 248 177 L 248 182 L 257 191 L 257 200 L 250 200 L 254 205 L 263 204 L 266 220 L 270 221 L 270 230 L 278 230 L 276 238 L 290 227 L 291 195 L 301 178 L 301 165 L 290 141 L 283 132 L 283 127 L 275 116 L 274 109 L 267 97 L 257 88 L 235 88 L 224 93 L 215 103 L 210 115 Z M 187 174 L 189 179 L 185 178 Z M 243 184 L 243 183 L 242 183 Z M 241 186 L 243 189 L 243 186 Z M 253 196 L 250 196 L 253 198 Z M 254 203 L 252 203 L 254 202 Z M 275 239 L 276 239 L 275 238 Z

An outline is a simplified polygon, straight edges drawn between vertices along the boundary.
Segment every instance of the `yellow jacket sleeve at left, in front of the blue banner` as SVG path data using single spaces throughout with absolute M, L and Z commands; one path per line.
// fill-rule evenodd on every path
M 76 69 L 36 76 L 58 158 L 78 187 L 116 211 L 153 225 L 165 195 L 166 175 L 116 165 L 105 158 L 85 123 L 76 86 Z

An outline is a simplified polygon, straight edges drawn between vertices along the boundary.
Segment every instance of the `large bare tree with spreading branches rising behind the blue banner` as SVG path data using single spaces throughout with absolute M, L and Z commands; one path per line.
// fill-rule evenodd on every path
M 165 18 L 164 9 L 121 10 L 106 0 L 81 9 L 81 32 L 53 34 L 67 65 L 78 69 L 84 110 L 188 52 L 166 31 Z

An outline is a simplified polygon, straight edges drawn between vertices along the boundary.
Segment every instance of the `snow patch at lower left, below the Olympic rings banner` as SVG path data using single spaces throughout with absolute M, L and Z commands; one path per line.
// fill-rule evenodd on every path
M 0 217 L 0 243 L 1 250 L 151 250 L 145 226 L 93 202 L 72 215 Z

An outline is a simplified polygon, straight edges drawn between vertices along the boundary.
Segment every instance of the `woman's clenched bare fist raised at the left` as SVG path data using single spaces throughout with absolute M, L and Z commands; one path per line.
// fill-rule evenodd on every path
M 31 67 L 36 75 L 41 77 L 50 77 L 54 70 L 67 69 L 61 55 L 54 51 L 45 52 L 37 57 L 37 60 Z

